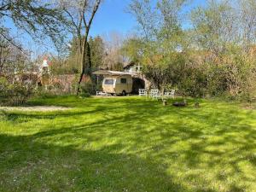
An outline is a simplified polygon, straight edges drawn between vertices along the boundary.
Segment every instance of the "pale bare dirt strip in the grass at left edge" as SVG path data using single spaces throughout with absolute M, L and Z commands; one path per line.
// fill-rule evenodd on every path
M 64 108 L 59 106 L 32 106 L 32 107 L 0 107 L 3 111 L 66 111 L 71 108 Z

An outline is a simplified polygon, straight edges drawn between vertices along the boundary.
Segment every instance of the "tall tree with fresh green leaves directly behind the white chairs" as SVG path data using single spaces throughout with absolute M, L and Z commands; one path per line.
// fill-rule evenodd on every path
M 126 43 L 140 55 L 143 71 L 155 87 L 170 81 L 169 68 L 182 61 L 181 13 L 185 0 L 132 0 L 129 5 L 139 25 L 141 38 Z M 130 53 L 131 54 L 131 53 Z M 134 53 L 133 53 L 134 54 Z

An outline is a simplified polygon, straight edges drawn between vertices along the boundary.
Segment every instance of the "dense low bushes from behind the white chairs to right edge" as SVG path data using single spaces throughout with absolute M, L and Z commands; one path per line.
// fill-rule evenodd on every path
M 243 102 L 255 100 L 255 58 L 241 51 L 228 52 L 221 60 L 206 58 L 177 58 L 177 62 L 145 65 L 143 73 L 155 87 L 162 90 L 168 84 L 176 87 L 183 96 L 218 96 Z

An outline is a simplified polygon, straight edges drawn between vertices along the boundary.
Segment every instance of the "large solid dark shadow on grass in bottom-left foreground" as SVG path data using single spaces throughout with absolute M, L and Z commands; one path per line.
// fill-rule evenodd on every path
M 0 191 L 185 191 L 165 170 L 113 144 L 78 150 L 0 135 Z

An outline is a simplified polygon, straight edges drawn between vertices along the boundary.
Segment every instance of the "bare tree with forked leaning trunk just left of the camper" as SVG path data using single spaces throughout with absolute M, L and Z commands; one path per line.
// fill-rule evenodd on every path
M 78 41 L 77 45 L 80 55 L 81 71 L 77 94 L 79 94 L 79 87 L 84 73 L 90 74 L 91 62 L 88 37 L 90 26 L 101 3 L 102 0 L 60 0 L 61 8 L 64 10 L 65 17 L 69 24 L 69 32 L 71 32 L 73 38 Z

